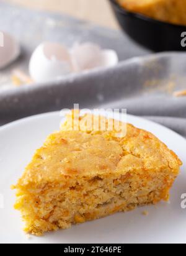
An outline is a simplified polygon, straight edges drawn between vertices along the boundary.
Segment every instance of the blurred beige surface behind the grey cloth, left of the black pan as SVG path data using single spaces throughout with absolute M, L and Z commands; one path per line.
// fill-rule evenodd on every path
M 79 19 L 86 19 L 95 24 L 118 29 L 107 0 L 7 0 L 33 9 L 63 12 Z

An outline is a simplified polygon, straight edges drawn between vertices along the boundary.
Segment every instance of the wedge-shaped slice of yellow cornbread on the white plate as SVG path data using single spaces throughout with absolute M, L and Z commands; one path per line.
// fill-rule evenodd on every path
M 182 163 L 166 145 L 131 124 L 123 137 L 86 122 L 74 131 L 73 118 L 35 152 L 15 186 L 26 232 L 42 235 L 169 198 Z

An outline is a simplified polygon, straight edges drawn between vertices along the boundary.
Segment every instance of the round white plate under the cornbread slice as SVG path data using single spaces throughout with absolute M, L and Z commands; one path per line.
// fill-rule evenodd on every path
M 181 208 L 181 195 L 186 193 L 186 140 L 166 127 L 130 115 L 128 122 L 153 132 L 184 162 L 171 190 L 170 204 L 159 203 L 130 213 L 118 213 L 28 239 L 22 232 L 20 214 L 13 209 L 15 192 L 10 186 L 22 175 L 33 152 L 43 144 L 47 135 L 59 129 L 60 119 L 59 112 L 53 112 L 22 119 L 0 129 L 0 243 L 186 242 L 186 209 Z M 142 214 L 144 210 L 149 212 L 148 216 Z

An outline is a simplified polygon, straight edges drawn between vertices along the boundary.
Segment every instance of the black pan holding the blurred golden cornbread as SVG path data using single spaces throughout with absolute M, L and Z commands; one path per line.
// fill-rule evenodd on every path
M 182 35 L 186 32 L 186 26 L 156 21 L 141 14 L 126 11 L 115 0 L 109 1 L 122 29 L 139 44 L 155 52 L 186 50 L 186 47 L 181 45 L 181 41 L 184 37 L 186 38 L 186 33 L 185 36 Z

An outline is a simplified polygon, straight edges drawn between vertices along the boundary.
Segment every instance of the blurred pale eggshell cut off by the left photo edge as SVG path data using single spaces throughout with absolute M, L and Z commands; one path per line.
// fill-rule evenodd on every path
M 19 43 L 6 32 L 0 32 L 0 69 L 14 62 L 20 54 Z

